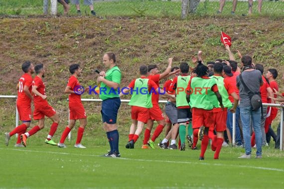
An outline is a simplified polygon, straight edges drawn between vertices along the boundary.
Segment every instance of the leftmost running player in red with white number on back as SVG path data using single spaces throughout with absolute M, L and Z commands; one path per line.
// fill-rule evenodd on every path
M 6 146 L 8 146 L 10 137 L 17 133 L 18 139 L 15 147 L 23 147 L 23 145 L 21 144 L 20 135 L 26 132 L 26 129 L 29 127 L 31 122 L 30 103 L 33 99 L 31 95 L 31 74 L 34 73 L 34 67 L 29 61 L 26 61 L 22 64 L 22 71 L 24 72 L 24 74 L 19 79 L 17 86 L 18 97 L 16 102 L 19 119 L 22 121 L 22 124 L 14 128 L 11 132 L 5 133 Z

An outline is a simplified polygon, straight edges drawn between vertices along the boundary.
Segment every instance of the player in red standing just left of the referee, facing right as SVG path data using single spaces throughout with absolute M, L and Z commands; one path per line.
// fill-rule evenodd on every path
M 72 76 L 69 78 L 68 84 L 65 88 L 64 93 L 69 94 L 69 113 L 70 120 L 68 126 L 65 128 L 61 135 L 61 139 L 57 144 L 60 148 L 66 148 L 64 141 L 71 131 L 71 129 L 75 126 L 76 120 L 79 119 L 80 126 L 78 128 L 77 140 L 74 145 L 75 148 L 86 148 L 81 144 L 81 140 L 83 137 L 84 129 L 87 125 L 87 115 L 85 108 L 81 101 L 81 94 L 83 91 L 80 91 L 80 83 L 78 81 L 78 77 L 81 76 L 82 69 L 80 69 L 79 64 L 71 64 L 69 67 L 69 71 Z M 88 90 L 89 88 L 86 88 Z

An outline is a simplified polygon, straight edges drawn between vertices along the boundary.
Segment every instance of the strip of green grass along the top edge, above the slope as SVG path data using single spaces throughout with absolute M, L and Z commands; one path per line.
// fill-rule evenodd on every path
M 83 15 L 90 15 L 90 9 L 81 0 Z M 254 2 L 253 11 L 258 15 L 258 2 Z M 119 0 L 94 1 L 98 16 L 149 16 L 149 17 L 180 17 L 180 1 L 161 0 Z M 204 1 L 198 5 L 197 15 L 213 15 L 219 9 L 219 1 Z M 230 16 L 232 1 L 226 2 L 222 15 Z M 284 2 L 279 0 L 264 1 L 262 14 L 266 16 L 283 16 Z M 63 6 L 58 5 L 58 12 L 63 13 Z M 238 1 L 236 15 L 248 12 L 248 2 Z M 0 15 L 41 15 L 43 0 L 1 0 Z M 69 15 L 76 15 L 75 5 L 71 4 Z

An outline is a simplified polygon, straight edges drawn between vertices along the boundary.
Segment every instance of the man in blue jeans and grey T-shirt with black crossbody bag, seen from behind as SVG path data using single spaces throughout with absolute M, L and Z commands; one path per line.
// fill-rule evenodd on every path
M 260 93 L 260 86 L 263 85 L 262 74 L 259 70 L 255 70 L 252 65 L 252 58 L 248 55 L 243 56 L 241 64 L 243 66 L 243 72 L 241 75 L 244 83 L 254 94 Z M 243 124 L 243 136 L 246 150 L 246 153 L 239 158 L 249 159 L 252 157 L 251 124 L 256 135 L 256 158 L 262 158 L 261 108 L 252 110 L 251 98 L 241 82 L 240 76 L 237 77 L 237 88 L 240 90 L 240 114 Z

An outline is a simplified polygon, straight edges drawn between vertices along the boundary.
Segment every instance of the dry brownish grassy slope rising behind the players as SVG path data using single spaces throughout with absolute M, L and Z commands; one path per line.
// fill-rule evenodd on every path
M 95 68 L 103 70 L 102 55 L 114 51 L 122 70 L 122 86 L 139 76 L 142 64 L 167 66 L 167 58 L 174 57 L 174 65 L 190 62 L 198 50 L 205 61 L 228 58 L 220 42 L 220 30 L 232 37 L 232 51 L 254 57 L 265 68 L 276 67 L 280 75 L 284 66 L 283 20 L 266 17 L 192 17 L 188 20 L 167 18 L 96 19 L 30 18 L 1 19 L 0 24 L 0 94 L 16 95 L 15 86 L 25 60 L 45 64 L 49 102 L 67 122 L 67 95 L 63 95 L 69 77 L 68 65 L 80 63 L 84 68 L 80 79 L 84 86 L 95 85 Z M 238 60 L 238 59 L 237 59 Z M 278 78 L 279 81 L 281 76 Z M 95 95 L 83 95 L 97 98 Z M 0 103 L 12 103 L 3 101 Z M 86 103 L 89 115 L 94 104 Z M 14 108 L 2 106 L 1 111 Z M 122 109 L 121 113 L 127 110 Z M 8 115 L 7 115 L 8 116 Z M 9 115 L 10 116 L 10 115 Z M 97 114 L 92 118 L 100 120 Z M 9 118 L 7 118 L 9 119 Z M 2 123 L 6 125 L 7 122 Z M 9 123 L 10 124 L 10 123 Z M 122 124 L 122 123 L 121 123 Z

